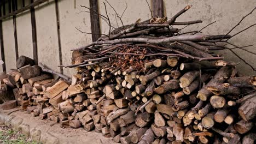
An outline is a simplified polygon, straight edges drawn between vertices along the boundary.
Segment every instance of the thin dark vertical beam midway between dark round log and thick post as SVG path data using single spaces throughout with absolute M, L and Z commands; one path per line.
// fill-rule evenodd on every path
M 58 44 L 59 44 L 59 58 L 60 65 L 62 65 L 62 52 L 61 52 L 61 39 L 60 39 L 60 14 L 59 14 L 59 0 L 55 0 L 55 12 L 57 20 L 57 35 L 58 35 Z M 63 74 L 63 68 L 60 67 L 60 72 Z

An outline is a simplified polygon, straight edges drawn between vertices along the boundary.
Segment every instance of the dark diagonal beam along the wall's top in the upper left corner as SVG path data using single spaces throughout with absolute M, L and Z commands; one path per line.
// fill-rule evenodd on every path
M 28 10 L 28 9 L 34 8 L 37 5 L 39 5 L 39 4 L 43 3 L 43 2 L 46 2 L 46 1 L 49 1 L 49 0 L 37 0 L 37 1 L 34 1 L 33 3 L 28 4 L 25 7 L 21 8 L 21 9 L 18 9 L 18 10 L 15 10 L 15 11 L 13 11 L 13 13 L 10 13 L 10 14 L 7 14 L 7 15 L 5 15 L 5 11 L 4 11 L 4 15 L 0 17 L 0 20 L 3 20 L 3 19 L 5 19 L 7 17 L 10 17 L 10 16 L 14 16 L 14 15 L 19 14 L 19 13 L 21 13 L 23 11 Z M 4 10 L 5 10 L 5 8 L 4 8 Z

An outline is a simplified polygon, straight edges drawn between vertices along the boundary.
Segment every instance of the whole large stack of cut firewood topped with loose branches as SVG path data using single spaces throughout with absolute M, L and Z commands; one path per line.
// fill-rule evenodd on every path
M 19 68 L 16 100 L 40 119 L 115 142 L 253 143 L 256 76 L 212 52 L 233 36 L 171 28 L 201 22 L 176 22 L 190 7 L 73 49 L 72 65 L 61 66 L 77 69 L 71 83 L 40 75 L 37 65 Z

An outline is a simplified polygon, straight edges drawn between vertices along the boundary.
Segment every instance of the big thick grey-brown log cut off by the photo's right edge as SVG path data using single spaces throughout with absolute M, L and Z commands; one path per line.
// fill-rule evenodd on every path
M 244 101 L 238 109 L 239 115 L 245 121 L 249 121 L 256 116 L 256 97 Z

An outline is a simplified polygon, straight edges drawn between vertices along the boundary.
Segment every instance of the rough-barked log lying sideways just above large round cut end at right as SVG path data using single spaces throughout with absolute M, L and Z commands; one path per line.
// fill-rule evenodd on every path
M 207 89 L 215 95 L 238 95 L 240 88 L 230 86 L 229 83 L 217 83 L 214 86 L 208 86 Z

